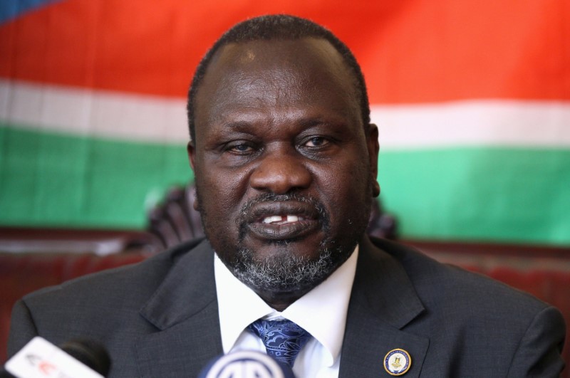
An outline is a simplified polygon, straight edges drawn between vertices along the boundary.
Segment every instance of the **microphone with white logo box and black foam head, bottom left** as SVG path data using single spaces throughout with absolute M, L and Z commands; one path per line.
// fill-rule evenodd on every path
M 104 378 L 110 357 L 96 342 L 76 339 L 56 347 L 36 336 L 4 365 L 1 378 Z

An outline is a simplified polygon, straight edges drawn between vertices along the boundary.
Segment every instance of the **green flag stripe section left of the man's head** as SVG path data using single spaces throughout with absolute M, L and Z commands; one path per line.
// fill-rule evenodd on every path
M 193 177 L 183 144 L 0 126 L 2 225 L 141 228 L 148 206 Z

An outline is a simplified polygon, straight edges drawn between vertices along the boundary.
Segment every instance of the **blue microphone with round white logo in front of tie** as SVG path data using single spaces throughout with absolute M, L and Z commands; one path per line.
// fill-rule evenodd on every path
M 287 364 L 253 350 L 232 352 L 207 364 L 198 378 L 295 378 Z

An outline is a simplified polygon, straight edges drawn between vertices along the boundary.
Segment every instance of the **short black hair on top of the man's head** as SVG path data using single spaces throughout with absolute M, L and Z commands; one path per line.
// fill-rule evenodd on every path
M 368 104 L 368 93 L 362 70 L 351 50 L 340 39 L 338 39 L 327 28 L 300 17 L 287 14 L 271 14 L 259 16 L 253 19 L 242 21 L 226 31 L 209 49 L 202 61 L 198 64 L 192 84 L 188 91 L 188 127 L 190 128 L 190 139 L 195 140 L 195 118 L 194 104 L 196 94 L 199 89 L 210 61 L 214 54 L 229 43 L 246 43 L 251 41 L 269 40 L 295 40 L 301 38 L 320 38 L 328 41 L 341 54 L 348 70 L 351 71 L 358 102 L 361 107 L 363 126 L 370 124 L 370 105 Z

